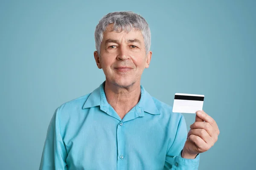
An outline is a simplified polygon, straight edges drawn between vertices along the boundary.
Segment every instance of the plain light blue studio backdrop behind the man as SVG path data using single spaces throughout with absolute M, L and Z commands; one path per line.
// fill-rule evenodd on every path
M 173 105 L 204 94 L 218 142 L 199 170 L 253 169 L 256 156 L 256 1 L 0 1 L 0 169 L 39 168 L 49 121 L 64 102 L 104 80 L 94 30 L 109 12 L 141 14 L 151 28 L 142 85 Z M 194 114 L 184 114 L 187 127 Z

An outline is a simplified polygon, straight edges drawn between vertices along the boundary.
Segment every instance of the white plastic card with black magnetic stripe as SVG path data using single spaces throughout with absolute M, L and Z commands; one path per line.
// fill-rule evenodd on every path
M 204 95 L 175 93 L 172 112 L 196 113 L 203 110 Z

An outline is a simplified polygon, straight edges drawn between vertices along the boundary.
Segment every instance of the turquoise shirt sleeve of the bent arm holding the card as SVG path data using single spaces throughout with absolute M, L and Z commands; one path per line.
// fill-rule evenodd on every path
M 195 159 L 185 159 L 181 157 L 187 137 L 185 118 L 182 115 L 177 127 L 173 144 L 166 154 L 164 170 L 198 170 L 200 154 Z

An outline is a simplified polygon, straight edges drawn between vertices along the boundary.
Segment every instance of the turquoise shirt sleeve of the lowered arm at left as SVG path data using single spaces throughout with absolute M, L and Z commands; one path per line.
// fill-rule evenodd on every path
M 67 170 L 67 151 L 61 137 L 58 108 L 50 121 L 39 170 Z

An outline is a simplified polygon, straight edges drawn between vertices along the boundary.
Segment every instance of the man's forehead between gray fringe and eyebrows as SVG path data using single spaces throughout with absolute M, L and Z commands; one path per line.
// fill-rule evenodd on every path
M 129 32 L 128 31 L 121 31 L 121 32 L 116 32 L 112 31 L 113 29 L 112 25 L 109 25 L 103 33 L 103 41 L 105 42 L 108 39 L 116 39 L 116 40 L 133 40 L 133 39 L 138 39 L 143 42 L 143 35 L 140 30 L 137 30 L 135 28 L 132 28 Z

